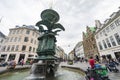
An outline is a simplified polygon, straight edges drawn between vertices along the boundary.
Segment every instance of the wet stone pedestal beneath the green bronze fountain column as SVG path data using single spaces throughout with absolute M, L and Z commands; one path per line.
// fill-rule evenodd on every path
M 54 77 L 59 63 L 55 60 L 45 60 L 34 63 L 30 70 L 30 76 L 25 80 L 45 80 L 49 77 Z

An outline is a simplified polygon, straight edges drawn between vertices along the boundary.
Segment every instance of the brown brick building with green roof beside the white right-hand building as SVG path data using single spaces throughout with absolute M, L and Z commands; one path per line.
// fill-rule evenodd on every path
M 95 57 L 99 55 L 96 40 L 95 40 L 95 27 L 86 27 L 86 33 L 83 32 L 83 47 L 85 57 L 89 58 L 90 56 Z

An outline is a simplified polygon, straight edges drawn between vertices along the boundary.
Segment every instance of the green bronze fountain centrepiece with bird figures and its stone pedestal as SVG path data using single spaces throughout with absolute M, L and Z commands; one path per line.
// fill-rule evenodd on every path
M 38 62 L 32 65 L 30 76 L 26 80 L 45 80 L 47 77 L 53 77 L 59 65 L 57 63 L 58 58 L 54 56 L 56 54 L 55 43 L 57 42 L 55 36 L 57 32 L 65 29 L 60 23 L 57 23 L 59 14 L 52 9 L 44 10 L 41 13 L 41 19 L 36 23 L 39 32 L 42 33 L 42 36 L 38 37 L 38 57 L 35 59 Z

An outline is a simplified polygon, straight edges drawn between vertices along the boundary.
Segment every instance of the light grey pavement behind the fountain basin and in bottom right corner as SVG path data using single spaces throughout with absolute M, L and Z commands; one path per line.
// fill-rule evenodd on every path
M 60 66 L 68 66 L 68 67 L 76 67 L 76 68 L 81 68 L 83 70 L 86 70 L 89 66 L 88 63 L 81 63 L 81 62 L 77 62 L 74 63 L 73 65 L 68 65 L 67 62 L 61 62 Z M 120 71 L 120 65 L 117 66 L 117 68 Z M 120 80 L 120 72 L 118 73 L 114 73 L 114 72 L 109 72 L 108 73 L 110 80 Z

